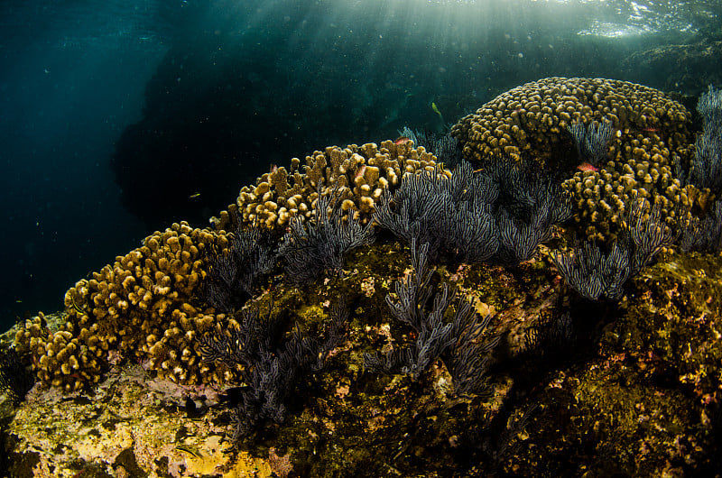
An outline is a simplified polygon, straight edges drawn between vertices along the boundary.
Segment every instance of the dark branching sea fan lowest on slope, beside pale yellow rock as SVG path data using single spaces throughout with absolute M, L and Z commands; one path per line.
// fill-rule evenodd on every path
M 231 439 L 238 441 L 264 420 L 282 423 L 286 400 L 301 373 L 320 370 L 329 352 L 344 337 L 348 310 L 343 299 L 331 307 L 325 338 L 301 335 L 296 326 L 284 344 L 275 340 L 278 323 L 272 317 L 261 318 L 258 310 L 245 309 L 238 328 L 216 330 L 201 337 L 199 348 L 206 362 L 225 363 L 233 369 L 240 365 L 244 386 L 231 413 L 236 427 Z

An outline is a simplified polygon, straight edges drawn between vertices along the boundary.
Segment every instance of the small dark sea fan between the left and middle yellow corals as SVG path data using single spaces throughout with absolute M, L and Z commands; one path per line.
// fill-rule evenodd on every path
M 226 313 L 243 307 L 253 296 L 257 278 L 271 271 L 275 259 L 270 233 L 239 225 L 227 253 L 215 250 L 209 254 L 204 289 L 208 304 Z

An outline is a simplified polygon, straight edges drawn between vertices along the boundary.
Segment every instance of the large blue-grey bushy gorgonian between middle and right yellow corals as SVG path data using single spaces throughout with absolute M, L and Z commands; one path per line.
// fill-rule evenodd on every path
M 526 161 L 500 158 L 484 170 L 466 162 L 450 178 L 424 171 L 386 193 L 375 220 L 411 243 L 430 244 L 434 262 L 531 259 L 571 213 L 569 195 Z

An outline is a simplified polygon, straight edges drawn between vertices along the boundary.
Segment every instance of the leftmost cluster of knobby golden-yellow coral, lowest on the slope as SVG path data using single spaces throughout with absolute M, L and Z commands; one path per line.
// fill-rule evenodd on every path
M 155 232 L 68 290 L 66 322 L 57 331 L 28 323 L 16 342 L 30 348 L 41 381 L 66 390 L 97 381 L 119 354 L 148 360 L 173 381 L 215 380 L 215 366 L 200 362 L 195 337 L 225 317 L 191 304 L 206 276 L 204 251 L 227 243 L 225 234 L 186 223 Z

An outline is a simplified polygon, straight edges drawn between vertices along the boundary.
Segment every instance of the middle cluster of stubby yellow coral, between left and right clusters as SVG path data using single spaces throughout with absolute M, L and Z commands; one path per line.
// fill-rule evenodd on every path
M 238 216 L 246 224 L 282 228 L 293 216 L 311 215 L 319 194 L 336 191 L 342 207 L 366 222 L 384 189 L 399 184 L 403 175 L 433 170 L 436 157 L 412 142 L 370 142 L 346 148 L 329 146 L 325 152 L 307 156 L 305 164 L 293 158 L 290 170 L 276 168 L 257 179 L 255 186 L 241 189 L 236 204 L 212 217 L 217 229 L 227 229 Z

